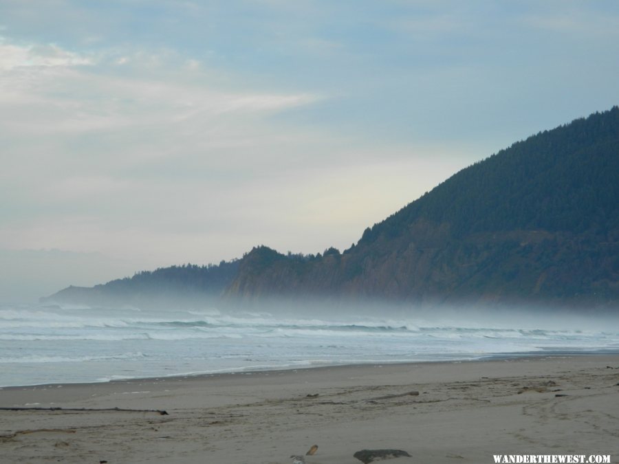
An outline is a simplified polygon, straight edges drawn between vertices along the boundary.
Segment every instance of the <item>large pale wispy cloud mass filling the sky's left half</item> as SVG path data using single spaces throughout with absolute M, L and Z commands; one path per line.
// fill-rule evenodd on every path
M 226 216 L 252 200 L 235 179 L 290 164 L 310 137 L 270 118 L 322 98 L 221 89 L 198 60 L 166 50 L 86 59 L 57 46 L 3 46 L 0 203 L 19 213 L 3 218 L 0 240 L 13 248 L 145 258 L 138 243 L 163 239 L 172 224 L 199 223 L 191 246 L 209 230 L 237 228 Z

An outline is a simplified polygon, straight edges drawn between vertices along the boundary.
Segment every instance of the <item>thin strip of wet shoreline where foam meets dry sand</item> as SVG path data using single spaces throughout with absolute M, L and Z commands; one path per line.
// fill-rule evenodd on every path
M 477 362 L 490 362 L 490 361 L 512 361 L 512 360 L 525 360 L 536 359 L 545 357 L 597 357 L 597 356 L 619 356 L 619 350 L 597 350 L 590 352 L 583 351 L 547 351 L 541 353 L 539 351 L 530 351 L 526 353 L 494 353 L 484 355 L 475 359 L 453 359 L 453 360 L 431 360 L 431 361 L 386 361 L 386 362 L 360 362 L 360 363 L 347 363 L 347 364 L 323 364 L 316 366 L 290 366 L 283 368 L 264 368 L 255 370 L 244 370 L 243 368 L 237 371 L 221 371 L 221 372 L 205 372 L 205 373 L 180 373 L 171 375 L 158 375 L 148 377 L 127 377 L 124 379 L 109 379 L 102 380 L 100 382 L 50 382 L 44 384 L 23 384 L 23 385 L 9 385 L 0 386 L 1 391 L 9 390 L 21 390 L 23 388 L 54 388 L 56 386 L 89 386 L 89 385 L 106 385 L 106 384 L 127 384 L 133 382 L 161 382 L 166 379 L 190 379 L 190 378 L 210 378 L 221 376 L 235 376 L 235 375 L 260 375 L 269 373 L 285 373 L 290 371 L 312 371 L 329 368 L 347 368 L 347 367 L 362 367 L 362 366 L 415 366 L 417 364 L 458 364 L 458 363 L 477 363 Z

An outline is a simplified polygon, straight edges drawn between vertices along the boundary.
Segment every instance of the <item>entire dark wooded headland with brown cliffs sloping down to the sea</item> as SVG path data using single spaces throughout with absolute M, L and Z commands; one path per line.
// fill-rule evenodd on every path
M 173 270 L 169 270 L 173 269 Z M 53 300 L 166 293 L 619 307 L 619 108 L 517 142 L 367 228 L 340 253 L 255 247 Z M 139 297 L 139 298 L 138 298 Z

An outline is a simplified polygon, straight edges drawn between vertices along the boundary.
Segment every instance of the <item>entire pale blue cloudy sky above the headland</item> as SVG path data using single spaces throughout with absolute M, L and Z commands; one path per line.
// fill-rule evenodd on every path
M 2 0 L 0 301 L 343 250 L 618 57 L 614 0 Z

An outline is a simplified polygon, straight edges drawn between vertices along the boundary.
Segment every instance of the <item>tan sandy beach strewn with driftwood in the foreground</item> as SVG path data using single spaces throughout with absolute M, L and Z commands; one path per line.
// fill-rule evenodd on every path
M 418 394 L 417 394 L 418 393 Z M 619 355 L 339 366 L 0 390 L 6 463 L 619 462 Z M 118 408 L 118 410 L 116 410 Z M 83 409 L 83 410 L 82 410 Z M 165 411 L 162 415 L 158 411 Z

